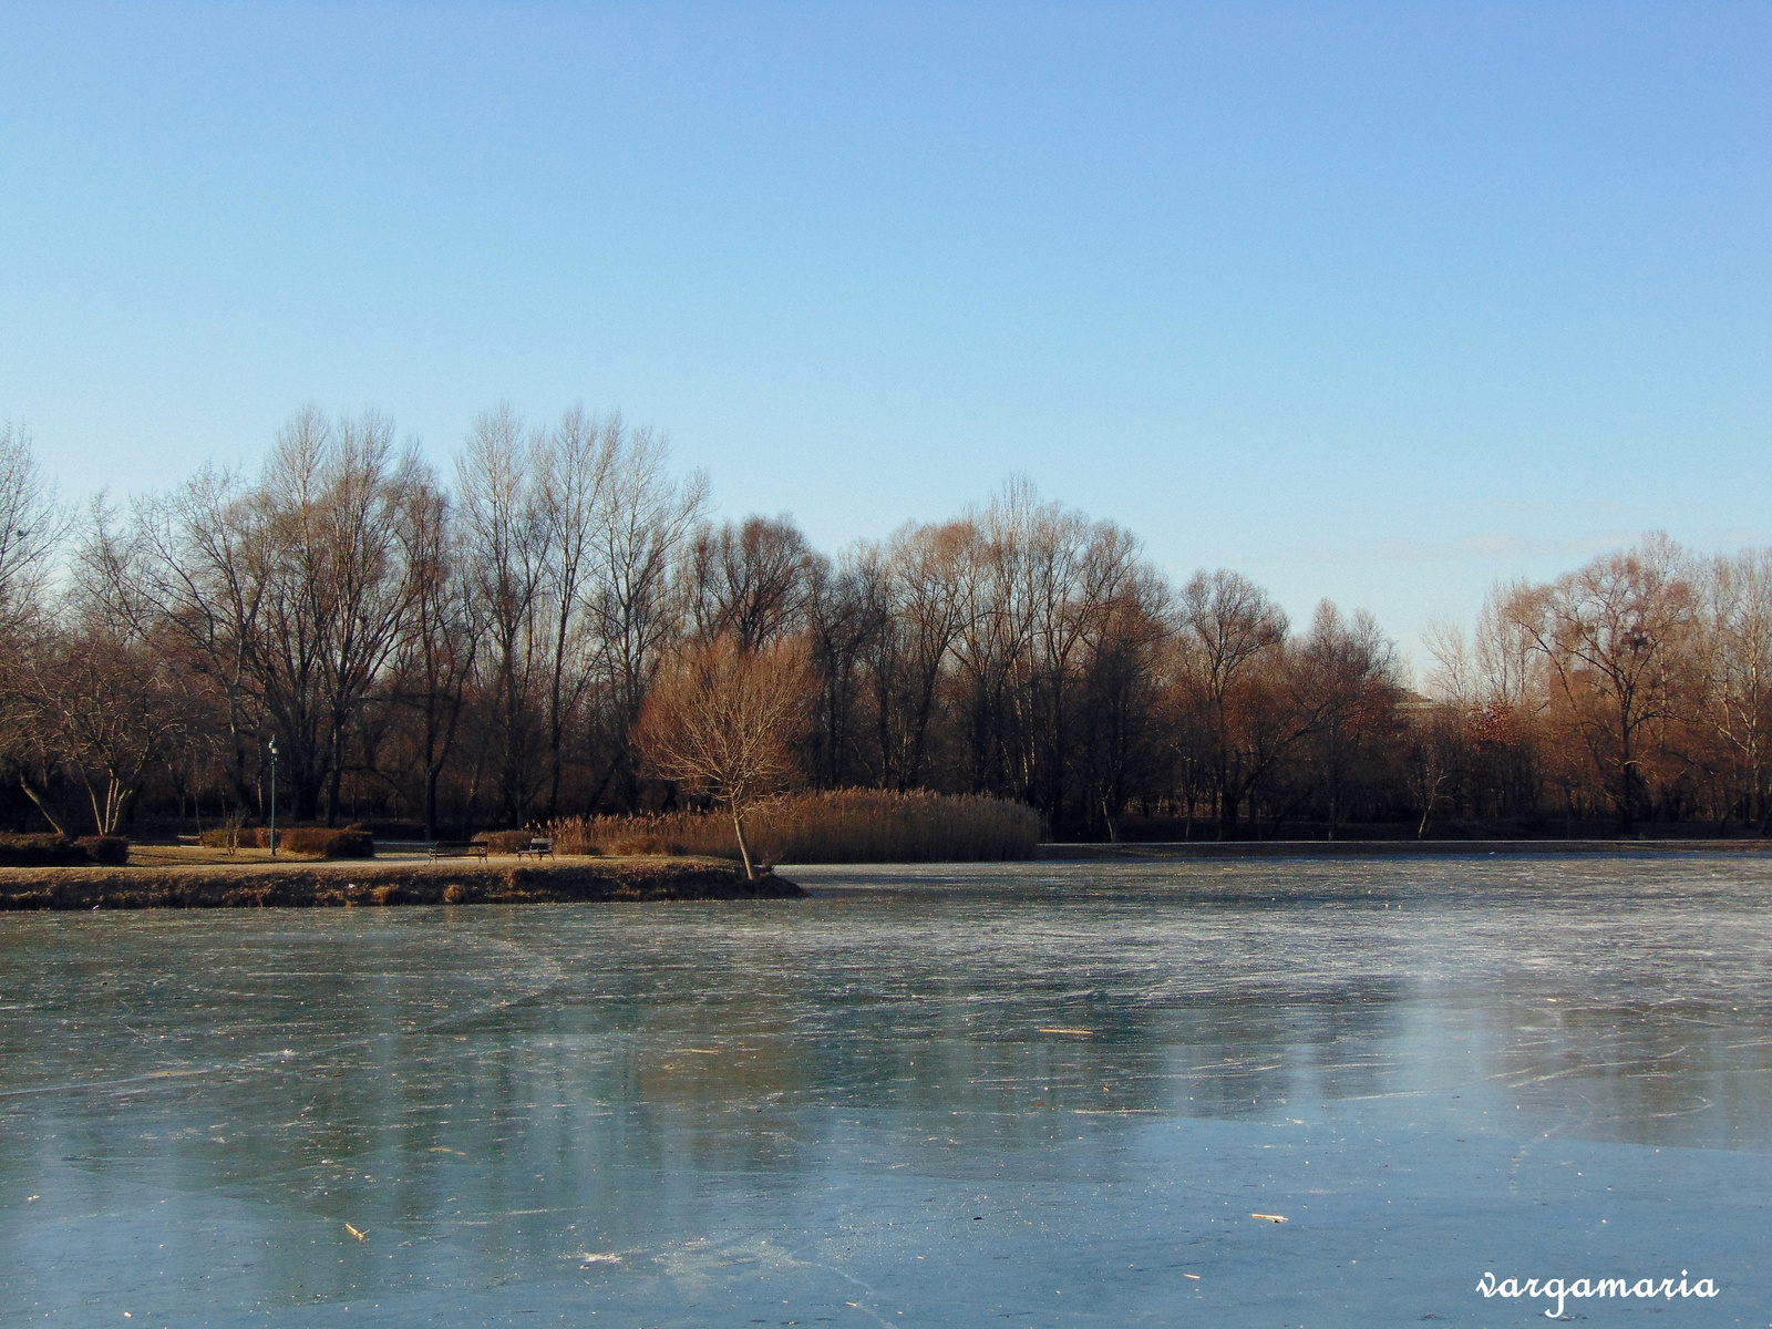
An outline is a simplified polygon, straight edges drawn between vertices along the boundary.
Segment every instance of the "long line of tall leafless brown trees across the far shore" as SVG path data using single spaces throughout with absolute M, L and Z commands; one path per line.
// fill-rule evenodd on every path
M 1246 578 L 1171 585 L 1030 487 L 831 558 L 712 525 L 620 418 L 475 420 L 450 482 L 376 415 L 298 415 L 67 523 L 0 434 L 0 815 L 521 826 L 668 803 L 634 727 L 675 652 L 792 647 L 819 787 L 989 792 L 1056 835 L 1772 817 L 1772 553 L 1652 537 L 1499 588 L 1471 638 L 1393 643 Z M 60 572 L 55 569 L 60 565 Z M 35 812 L 34 812 L 35 810 Z

